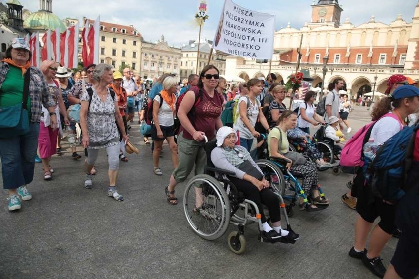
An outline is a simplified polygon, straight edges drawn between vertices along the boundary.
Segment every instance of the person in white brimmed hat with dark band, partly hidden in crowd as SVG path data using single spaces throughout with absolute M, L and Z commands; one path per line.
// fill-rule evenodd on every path
M 68 92 L 70 91 L 71 87 L 73 87 L 73 85 L 74 85 L 74 80 L 70 78 L 71 77 L 71 72 L 69 72 L 67 70 L 67 68 L 65 68 L 65 67 L 58 67 L 57 73 L 55 74 L 55 76 L 58 79 L 58 83 L 60 85 L 62 100 L 64 101 L 65 109 L 68 110 L 68 108 L 70 107 L 70 103 L 68 102 L 67 96 L 68 96 Z M 62 114 L 60 114 L 60 118 L 63 119 Z M 70 128 L 73 131 L 73 134 L 76 134 L 76 122 L 75 121 L 70 120 Z M 63 126 L 62 129 L 65 129 L 65 127 Z M 77 154 L 76 146 L 71 146 L 71 152 L 73 153 L 73 155 L 71 155 L 71 157 L 74 160 L 80 159 L 82 157 L 79 154 Z M 62 152 L 61 152 L 61 137 L 57 137 L 56 154 L 58 156 L 62 155 Z

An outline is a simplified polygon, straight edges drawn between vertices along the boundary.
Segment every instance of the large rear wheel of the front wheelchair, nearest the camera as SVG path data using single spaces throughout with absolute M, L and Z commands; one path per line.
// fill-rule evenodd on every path
M 196 208 L 196 204 L 201 206 Z M 183 195 L 183 209 L 194 232 L 207 240 L 221 237 L 230 223 L 230 201 L 224 186 L 207 174 L 189 181 Z

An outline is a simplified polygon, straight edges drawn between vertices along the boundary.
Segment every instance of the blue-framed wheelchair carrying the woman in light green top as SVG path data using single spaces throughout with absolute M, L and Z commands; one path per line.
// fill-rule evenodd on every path
M 309 197 L 305 194 L 299 182 L 299 179 L 302 179 L 303 175 L 288 171 L 285 167 L 288 161 L 283 158 L 269 156 L 267 137 L 265 134 L 261 134 L 261 136 L 264 139 L 262 145 L 263 152 L 261 152 L 263 158 L 255 162 L 262 170 L 265 179 L 269 181 L 272 191 L 278 193 L 284 200 L 288 201 L 288 204 L 285 206 L 288 217 L 294 215 L 293 207 L 296 205 L 298 197 L 303 199 L 305 210 L 310 211 Z M 320 197 L 326 198 L 322 188 L 319 187 L 318 190 Z M 318 205 L 321 209 L 325 209 L 328 206 Z

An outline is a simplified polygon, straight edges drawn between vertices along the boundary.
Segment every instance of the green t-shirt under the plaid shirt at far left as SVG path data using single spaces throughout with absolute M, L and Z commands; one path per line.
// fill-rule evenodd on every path
M 13 65 L 9 65 L 9 67 L 0 89 L 0 107 L 2 108 L 20 104 L 23 98 L 24 76 L 22 76 L 22 70 Z M 27 108 L 30 119 L 30 96 L 28 96 Z

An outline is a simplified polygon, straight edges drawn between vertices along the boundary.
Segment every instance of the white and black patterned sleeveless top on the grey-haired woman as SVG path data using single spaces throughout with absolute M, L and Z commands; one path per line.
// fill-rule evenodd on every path
M 99 149 L 120 144 L 114 116 L 115 104 L 109 89 L 105 102 L 102 102 L 97 96 L 94 87 L 92 89 L 93 95 L 87 117 L 88 149 Z M 85 91 L 80 100 L 89 102 L 89 99 L 89 94 Z M 115 96 L 115 102 L 118 102 L 117 96 Z

